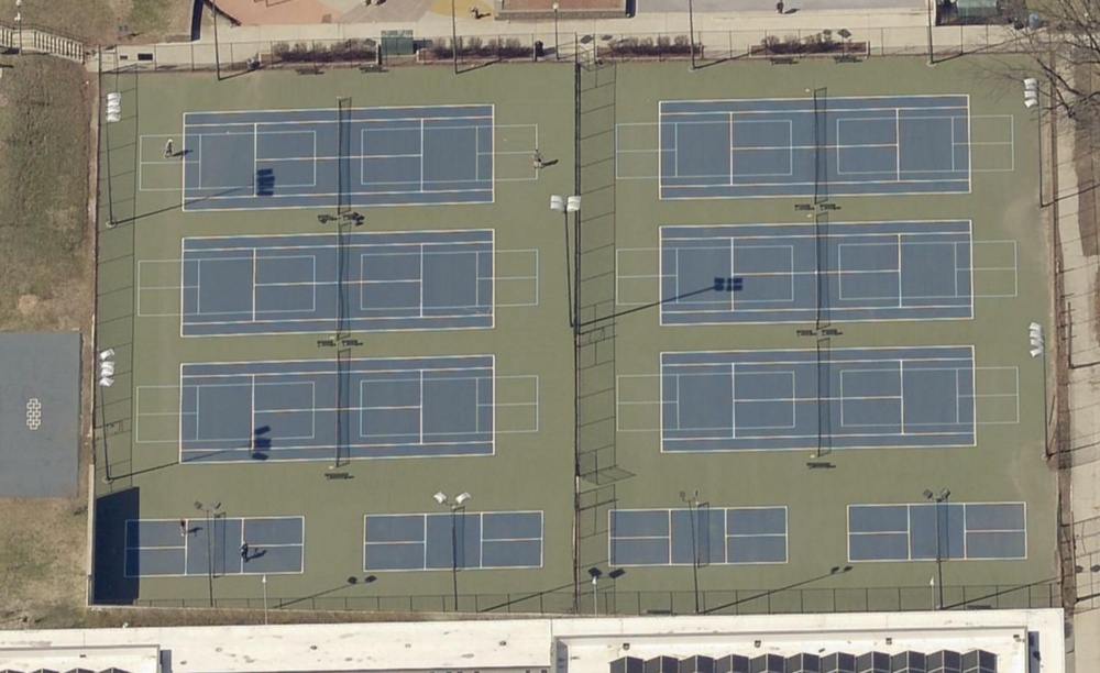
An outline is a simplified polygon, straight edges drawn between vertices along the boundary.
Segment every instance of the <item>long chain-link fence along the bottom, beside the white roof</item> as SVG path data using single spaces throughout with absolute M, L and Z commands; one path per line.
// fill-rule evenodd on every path
M 271 578 L 270 578 L 271 580 Z M 256 587 L 260 584 L 257 582 Z M 268 586 L 271 586 L 268 584 Z M 365 584 L 348 584 L 314 596 L 296 598 L 271 595 L 271 610 L 453 613 L 450 595 L 369 596 L 339 595 L 369 592 Z M 700 592 L 700 614 L 707 615 L 794 615 L 811 613 L 897 613 L 931 610 L 935 587 L 894 586 L 859 588 L 776 588 Z M 258 592 L 258 588 L 257 588 Z M 949 610 L 1040 609 L 1062 607 L 1058 580 L 1025 585 L 945 586 L 944 605 Z M 264 608 L 256 596 L 218 595 L 215 605 L 227 609 Z M 695 614 L 695 594 L 685 592 L 582 593 L 574 608 L 572 586 L 541 593 L 463 594 L 458 608 L 464 613 L 515 615 L 647 616 Z M 207 598 L 138 599 L 135 607 L 207 608 Z

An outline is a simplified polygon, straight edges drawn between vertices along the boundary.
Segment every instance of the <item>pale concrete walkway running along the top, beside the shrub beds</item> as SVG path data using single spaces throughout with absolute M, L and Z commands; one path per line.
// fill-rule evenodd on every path
M 391 0 L 382 8 L 399 1 Z M 853 1 L 866 3 L 866 0 Z M 219 24 L 218 31 L 218 55 L 223 66 L 228 63 L 241 64 L 249 57 L 270 53 L 274 43 L 378 40 L 383 31 L 395 30 L 411 30 L 418 40 L 450 40 L 449 14 L 427 11 L 424 2 L 409 4 L 417 5 L 419 18 L 363 23 L 237 27 L 223 21 Z M 782 16 L 777 15 L 774 10 L 696 12 L 694 23 L 697 41 L 703 44 L 708 56 L 717 58 L 744 55 L 750 46 L 760 44 L 767 35 L 804 37 L 822 30 L 831 30 L 834 34 L 846 30 L 850 33 L 853 42 L 868 43 L 872 54 L 926 55 L 928 49 L 927 13 L 922 7 L 908 9 L 856 7 L 813 12 L 799 11 Z M 481 37 L 486 41 L 497 37 L 515 38 L 522 44 L 531 44 L 540 40 L 548 48 L 554 44 L 557 35 L 561 54 L 572 58 L 573 45 L 579 44 L 576 41 L 581 40 L 588 44 L 592 42 L 600 44 L 625 36 L 686 35 L 689 15 L 682 11 L 650 11 L 626 19 L 584 21 L 562 19 L 556 25 L 553 20 L 529 22 L 494 21 L 490 18 L 475 20 L 471 14 L 463 12 L 455 18 L 454 30 L 459 36 Z M 138 54 L 144 53 L 152 54 L 152 60 L 142 62 L 146 67 L 212 67 L 216 62 L 213 32 L 204 31 L 204 33 L 201 40 L 191 43 L 119 46 L 111 52 L 111 55 L 117 55 L 120 65 L 128 62 L 135 64 Z M 935 49 L 942 55 L 1004 48 L 1015 44 L 1020 38 L 1019 32 L 1007 25 L 938 26 L 933 34 Z M 581 48 L 586 47 L 582 45 Z M 90 65 L 96 67 L 95 63 Z M 107 63 L 105 67 L 113 65 Z

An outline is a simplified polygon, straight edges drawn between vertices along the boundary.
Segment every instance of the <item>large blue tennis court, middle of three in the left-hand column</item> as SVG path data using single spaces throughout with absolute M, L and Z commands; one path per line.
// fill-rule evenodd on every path
M 493 327 L 492 230 L 337 236 L 184 239 L 182 334 Z

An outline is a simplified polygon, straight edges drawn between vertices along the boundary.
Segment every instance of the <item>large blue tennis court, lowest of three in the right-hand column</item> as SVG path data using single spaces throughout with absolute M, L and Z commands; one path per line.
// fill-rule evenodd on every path
M 970 346 L 661 354 L 662 451 L 972 446 Z

